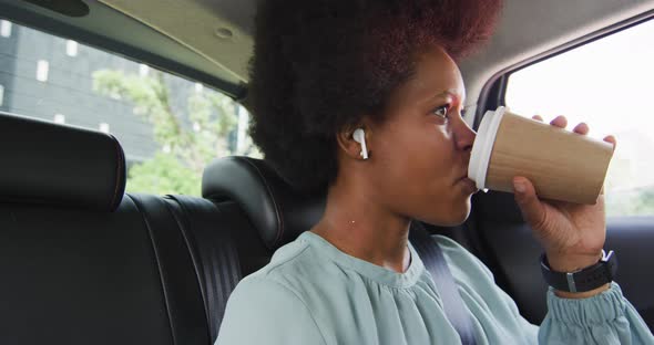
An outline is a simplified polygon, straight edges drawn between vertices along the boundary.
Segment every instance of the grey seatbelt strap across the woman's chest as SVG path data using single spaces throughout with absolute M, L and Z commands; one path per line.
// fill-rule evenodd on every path
M 463 345 L 474 345 L 472 320 L 463 305 L 452 272 L 442 254 L 438 242 L 431 238 L 418 221 L 411 222 L 409 240 L 422 260 L 425 268 L 431 273 L 433 284 L 440 293 L 446 316 L 459 333 Z

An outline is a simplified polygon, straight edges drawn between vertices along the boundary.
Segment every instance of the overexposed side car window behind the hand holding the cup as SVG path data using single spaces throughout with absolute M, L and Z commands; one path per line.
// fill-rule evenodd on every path
M 654 21 L 538 62 L 509 77 L 505 104 L 590 135 L 613 134 L 617 147 L 605 180 L 609 216 L 654 215 Z

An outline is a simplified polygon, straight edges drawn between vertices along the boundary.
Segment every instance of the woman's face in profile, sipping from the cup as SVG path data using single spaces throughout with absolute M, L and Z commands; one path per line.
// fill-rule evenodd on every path
M 369 126 L 371 194 L 389 210 L 453 226 L 477 191 L 467 179 L 474 132 L 461 117 L 461 73 L 440 48 L 419 55 L 416 73 L 390 97 L 386 121 Z

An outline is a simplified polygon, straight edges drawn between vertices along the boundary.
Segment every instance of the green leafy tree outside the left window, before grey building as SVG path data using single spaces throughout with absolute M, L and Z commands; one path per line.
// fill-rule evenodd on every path
M 127 190 L 200 195 L 204 166 L 232 155 L 228 136 L 237 125 L 237 104 L 213 91 L 193 92 L 184 111 L 174 111 L 171 76 L 152 71 L 142 76 L 117 70 L 93 73 L 93 91 L 133 105 L 133 113 L 152 125 L 159 150 L 130 168 Z

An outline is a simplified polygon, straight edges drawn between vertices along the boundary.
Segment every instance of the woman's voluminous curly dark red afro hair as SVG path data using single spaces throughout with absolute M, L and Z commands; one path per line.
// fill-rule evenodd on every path
M 381 114 L 438 44 L 454 60 L 489 38 L 501 0 L 266 0 L 255 20 L 251 135 L 293 186 L 337 175 L 336 134 Z

